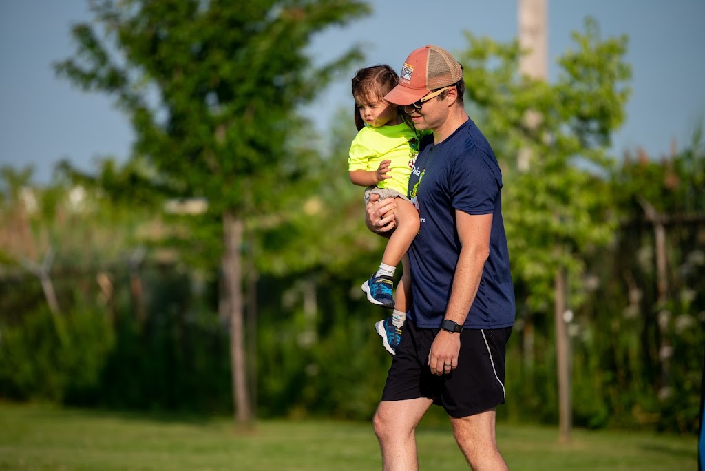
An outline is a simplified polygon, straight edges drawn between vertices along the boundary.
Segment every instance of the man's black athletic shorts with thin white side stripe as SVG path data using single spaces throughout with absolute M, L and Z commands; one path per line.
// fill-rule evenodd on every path
M 505 346 L 512 328 L 463 329 L 458 368 L 437 376 L 427 362 L 439 330 L 420 329 L 406 320 L 382 400 L 430 398 L 458 418 L 503 404 Z

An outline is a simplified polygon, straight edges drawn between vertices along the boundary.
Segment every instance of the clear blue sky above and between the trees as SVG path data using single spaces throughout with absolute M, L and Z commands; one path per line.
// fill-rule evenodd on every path
M 632 97 L 613 153 L 637 146 L 652 157 L 668 154 L 671 141 L 685 147 L 705 118 L 705 1 L 547 0 L 548 80 L 556 58 L 573 47 L 570 32 L 593 16 L 603 37 L 627 35 Z M 321 33 L 312 44 L 317 61 L 332 59 L 353 42 L 365 45 L 360 66 L 389 63 L 397 70 L 425 44 L 451 52 L 467 47 L 465 30 L 508 42 L 517 35 L 517 0 L 374 0 L 372 16 Z M 96 157 L 124 159 L 133 134 L 128 120 L 100 94 L 81 92 L 55 77 L 51 63 L 75 51 L 72 23 L 89 19 L 85 0 L 0 1 L 0 165 L 34 164 L 46 183 L 59 159 L 85 170 Z M 350 75 L 354 71 L 350 71 Z M 307 114 L 328 130 L 333 111 L 352 104 L 348 77 L 325 90 Z M 341 158 L 346 158 L 343 156 Z

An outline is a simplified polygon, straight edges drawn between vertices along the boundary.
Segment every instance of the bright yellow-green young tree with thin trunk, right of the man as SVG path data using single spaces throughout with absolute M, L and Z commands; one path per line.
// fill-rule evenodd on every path
M 584 259 L 605 247 L 615 229 L 606 176 L 613 162 L 611 135 L 624 121 L 630 94 L 631 70 L 623 61 L 627 39 L 603 40 L 587 18 L 584 32 L 572 35 L 575 49 L 558 59 L 558 78 L 549 84 L 517 73 L 523 54 L 517 42 L 467 37 L 470 48 L 459 59 L 477 107 L 471 116 L 478 116 L 505 169 L 506 230 L 517 305 L 525 307 L 520 324 L 531 335 L 532 313 L 553 305 L 561 432 L 568 439 L 563 313 L 566 305 L 575 309 L 584 302 Z M 532 156 L 526 170 L 515 160 L 521 149 Z

